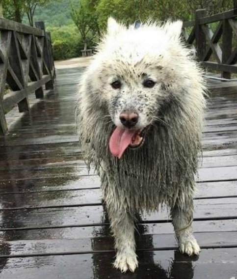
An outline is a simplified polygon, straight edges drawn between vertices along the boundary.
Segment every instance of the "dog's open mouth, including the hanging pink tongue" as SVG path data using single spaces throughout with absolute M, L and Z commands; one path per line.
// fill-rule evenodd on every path
M 117 127 L 109 140 L 111 154 L 120 159 L 128 147 L 135 149 L 142 146 L 148 127 L 142 130 L 128 130 Z

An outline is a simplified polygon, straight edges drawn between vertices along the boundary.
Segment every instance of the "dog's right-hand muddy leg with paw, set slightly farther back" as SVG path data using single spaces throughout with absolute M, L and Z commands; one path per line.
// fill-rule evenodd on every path
M 171 207 L 171 218 L 181 253 L 186 253 L 189 256 L 199 254 L 200 247 L 192 230 L 193 200 L 191 196 L 186 196 L 182 202 L 177 201 Z

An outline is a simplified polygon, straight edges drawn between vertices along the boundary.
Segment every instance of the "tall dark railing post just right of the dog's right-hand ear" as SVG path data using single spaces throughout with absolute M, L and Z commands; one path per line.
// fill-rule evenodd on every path
M 199 61 L 203 61 L 203 56 L 206 49 L 206 38 L 199 23 L 199 19 L 206 16 L 206 9 L 199 9 L 195 12 L 195 41 L 196 41 L 196 51 Z

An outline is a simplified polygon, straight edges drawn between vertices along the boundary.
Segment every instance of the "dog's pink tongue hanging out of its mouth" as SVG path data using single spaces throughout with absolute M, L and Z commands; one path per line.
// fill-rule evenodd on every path
M 117 127 L 109 140 L 109 150 L 114 157 L 119 159 L 132 141 L 132 137 L 136 133 L 135 130 L 121 129 Z

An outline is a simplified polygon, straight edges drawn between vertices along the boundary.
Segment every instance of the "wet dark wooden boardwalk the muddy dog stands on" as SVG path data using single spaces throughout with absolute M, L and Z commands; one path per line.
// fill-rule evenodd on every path
M 83 68 L 57 70 L 54 91 L 7 114 L 0 140 L 0 279 L 237 278 L 237 84 L 211 82 L 195 197 L 200 256 L 177 251 L 166 211 L 143 216 L 139 268 L 112 268 L 100 182 L 88 175 L 74 129 Z

